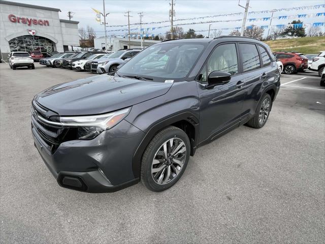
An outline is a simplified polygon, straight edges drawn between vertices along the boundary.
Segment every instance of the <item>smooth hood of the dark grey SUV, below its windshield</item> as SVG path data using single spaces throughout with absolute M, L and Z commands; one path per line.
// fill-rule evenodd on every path
M 52 86 L 35 100 L 59 115 L 100 114 L 164 95 L 172 84 L 98 75 Z

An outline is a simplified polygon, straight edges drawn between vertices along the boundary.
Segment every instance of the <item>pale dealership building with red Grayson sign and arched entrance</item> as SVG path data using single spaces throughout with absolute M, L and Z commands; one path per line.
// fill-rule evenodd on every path
M 0 52 L 68 51 L 79 46 L 78 21 L 59 18 L 61 10 L 0 0 Z

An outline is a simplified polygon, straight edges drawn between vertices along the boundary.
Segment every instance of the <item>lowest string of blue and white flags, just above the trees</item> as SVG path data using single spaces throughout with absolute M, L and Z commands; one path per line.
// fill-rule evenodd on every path
M 318 26 L 324 26 L 325 22 L 314 22 L 314 23 L 297 23 L 297 24 L 276 24 L 276 25 L 271 25 L 271 27 L 276 27 L 276 28 L 306 28 L 307 26 L 312 25 L 313 27 L 318 27 Z M 255 27 L 257 25 L 250 25 L 250 26 L 246 26 L 246 28 L 251 29 L 253 27 Z M 261 27 L 263 29 L 268 29 L 270 26 L 269 25 L 259 25 L 257 27 Z M 233 29 L 237 29 L 240 30 L 241 27 L 231 27 L 231 28 L 218 28 L 218 29 L 210 29 L 210 31 L 229 31 L 229 30 L 233 30 Z M 201 29 L 199 31 L 196 32 L 208 32 L 208 29 Z M 183 32 L 186 33 L 186 32 Z M 143 37 L 155 37 L 155 36 L 159 36 L 159 35 L 165 35 L 166 33 L 156 33 L 156 34 L 131 34 L 130 37 L 131 38 L 143 38 Z M 175 34 L 179 34 L 179 33 L 173 33 Z M 111 36 L 123 36 L 123 37 L 128 37 L 127 34 L 125 35 L 111 35 Z

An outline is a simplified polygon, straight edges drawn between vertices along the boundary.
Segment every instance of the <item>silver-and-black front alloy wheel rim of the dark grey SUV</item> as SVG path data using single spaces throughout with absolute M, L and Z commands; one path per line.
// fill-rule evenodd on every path
M 155 153 L 151 165 L 151 176 L 159 185 L 165 185 L 177 177 L 186 159 L 185 143 L 179 138 L 171 138 L 163 143 Z

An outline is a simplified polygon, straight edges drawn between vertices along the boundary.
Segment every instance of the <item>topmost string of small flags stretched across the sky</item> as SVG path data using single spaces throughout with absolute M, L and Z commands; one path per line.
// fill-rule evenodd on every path
M 269 13 L 269 12 L 306 10 L 306 9 L 309 9 L 310 10 L 310 9 L 319 9 L 319 8 L 325 8 L 325 4 L 312 5 L 312 6 L 303 6 L 303 7 L 296 7 L 296 8 L 282 8 L 282 9 L 274 9 L 274 10 L 251 11 L 251 12 L 248 12 L 248 14 L 251 15 L 251 14 Z M 175 19 L 174 21 L 196 20 L 196 19 L 215 18 L 215 17 L 224 17 L 224 16 L 234 16 L 234 15 L 242 15 L 242 14 L 243 14 L 242 12 L 239 12 L 239 13 L 230 13 L 230 14 L 218 14 L 218 15 L 210 15 L 210 16 L 203 16 L 203 17 Z M 304 17 L 301 17 L 301 18 L 304 18 Z M 170 21 L 169 20 L 154 21 L 154 22 L 146 22 L 146 23 L 141 23 L 141 24 L 161 24 L 161 23 L 167 23 L 167 22 L 170 22 Z M 140 23 L 134 23 L 132 25 L 139 25 L 139 24 Z M 107 27 L 123 27 L 123 26 L 127 26 L 127 24 L 107 25 Z

